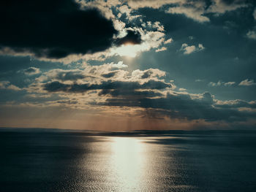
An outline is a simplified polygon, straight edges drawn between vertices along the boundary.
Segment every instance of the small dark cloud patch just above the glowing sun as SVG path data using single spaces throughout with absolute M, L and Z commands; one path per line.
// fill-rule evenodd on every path
M 127 30 L 127 35 L 123 38 L 116 39 L 115 44 L 120 46 L 124 44 L 140 44 L 142 42 L 140 33 L 137 31 Z

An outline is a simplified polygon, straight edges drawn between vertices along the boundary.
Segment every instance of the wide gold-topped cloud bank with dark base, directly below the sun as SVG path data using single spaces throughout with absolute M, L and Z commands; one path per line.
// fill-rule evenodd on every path
M 105 89 L 159 90 L 174 86 L 172 83 L 160 79 L 165 76 L 165 72 L 159 69 L 146 69 L 144 71 L 136 69 L 131 74 L 122 69 L 113 69 L 113 64 L 86 66 L 83 70 L 53 69 L 42 74 L 42 77 L 38 77 L 37 82 L 45 91 L 68 93 Z

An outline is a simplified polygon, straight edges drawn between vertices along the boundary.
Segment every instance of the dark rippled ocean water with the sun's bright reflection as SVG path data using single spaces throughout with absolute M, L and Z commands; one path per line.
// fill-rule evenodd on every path
M 255 131 L 0 131 L 0 191 L 256 191 Z

